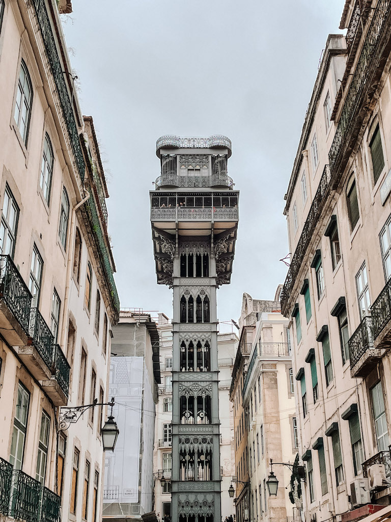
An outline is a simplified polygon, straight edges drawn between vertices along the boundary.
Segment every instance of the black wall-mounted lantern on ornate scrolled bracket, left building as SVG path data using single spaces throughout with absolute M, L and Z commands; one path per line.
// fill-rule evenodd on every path
M 58 429 L 59 431 L 67 430 L 70 424 L 75 424 L 75 422 L 77 422 L 80 419 L 80 417 L 85 411 L 89 410 L 90 408 L 95 408 L 95 406 L 111 406 L 112 408 L 107 421 L 105 422 L 103 428 L 101 428 L 101 435 L 103 450 L 105 452 L 113 452 L 119 434 L 117 423 L 114 421 L 113 417 L 114 397 L 112 397 L 112 400 L 110 402 L 98 402 L 97 399 L 95 399 L 92 404 L 62 407 L 60 410 Z

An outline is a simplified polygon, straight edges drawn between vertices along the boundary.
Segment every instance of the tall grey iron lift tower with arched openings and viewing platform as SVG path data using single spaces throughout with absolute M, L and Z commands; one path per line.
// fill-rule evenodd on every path
M 224 136 L 163 136 L 151 196 L 157 282 L 174 290 L 172 519 L 221 519 L 216 289 L 229 283 L 238 192 Z

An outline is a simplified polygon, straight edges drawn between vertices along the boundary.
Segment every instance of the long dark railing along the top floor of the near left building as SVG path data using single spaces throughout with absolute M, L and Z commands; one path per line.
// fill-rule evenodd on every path
M 35 14 L 38 18 L 42 39 L 46 48 L 47 58 L 52 69 L 54 81 L 58 92 L 58 98 L 63 109 L 64 120 L 68 128 L 72 148 L 74 149 L 80 179 L 83 183 L 85 163 L 80 145 L 78 127 L 76 124 L 75 114 L 72 108 L 72 103 L 69 98 L 68 89 L 64 79 L 63 65 L 58 56 L 56 41 L 54 39 L 50 18 L 47 14 L 45 0 L 32 0 L 31 3 L 34 6 Z

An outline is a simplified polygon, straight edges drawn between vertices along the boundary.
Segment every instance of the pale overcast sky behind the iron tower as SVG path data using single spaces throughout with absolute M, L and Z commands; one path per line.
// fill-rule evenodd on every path
M 273 299 L 287 267 L 283 216 L 301 127 L 343 0 L 73 0 L 63 16 L 80 104 L 92 115 L 110 197 L 108 229 L 123 307 L 172 317 L 156 284 L 149 191 L 164 134 L 232 140 L 240 190 L 230 285 L 217 316 L 238 319 L 243 292 Z

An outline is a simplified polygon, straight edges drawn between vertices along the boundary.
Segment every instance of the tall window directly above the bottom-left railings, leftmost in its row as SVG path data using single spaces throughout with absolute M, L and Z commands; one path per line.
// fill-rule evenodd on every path
M 30 394 L 27 389 L 19 383 L 15 407 L 14 431 L 12 434 L 11 450 L 9 453 L 9 461 L 14 466 L 14 469 L 22 469 L 29 404 Z

